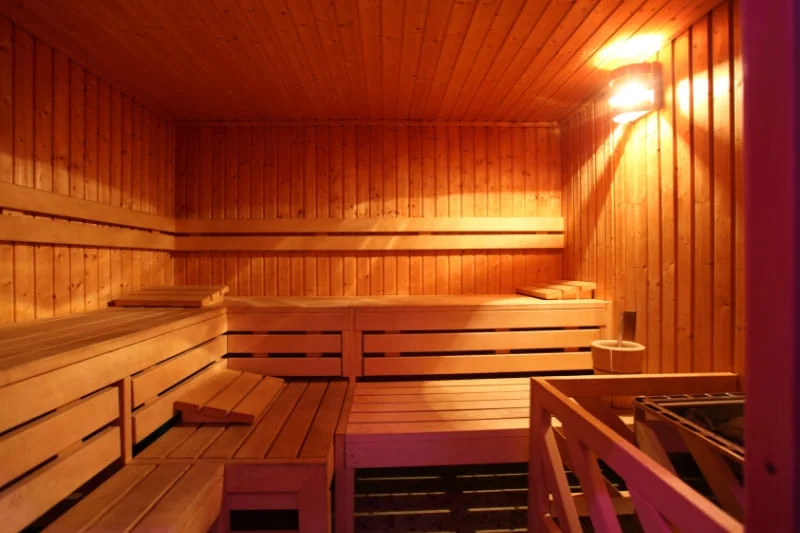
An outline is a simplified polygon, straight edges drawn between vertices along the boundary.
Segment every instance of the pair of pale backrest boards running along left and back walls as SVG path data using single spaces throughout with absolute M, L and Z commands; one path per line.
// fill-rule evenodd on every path
M 0 241 L 196 251 L 510 250 L 562 248 L 560 217 L 202 220 L 174 219 L 0 183 L 0 208 L 94 224 L 31 217 L 0 219 Z M 173 237 L 172 234 L 181 234 Z M 450 234 L 408 236 L 403 234 Z M 225 234 L 224 237 L 193 234 Z M 247 234 L 259 234 L 248 236 Z M 311 234 L 311 236 L 303 234 Z M 371 234 L 353 237 L 339 234 Z M 385 235 L 377 235 L 385 234 Z M 469 235 L 473 234 L 473 235 Z M 297 236 L 300 235 L 300 236 Z M 337 235 L 337 236 L 334 236 Z

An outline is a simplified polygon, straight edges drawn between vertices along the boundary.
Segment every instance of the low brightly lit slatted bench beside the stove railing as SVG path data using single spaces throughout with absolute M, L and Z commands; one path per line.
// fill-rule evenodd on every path
M 358 468 L 527 462 L 529 406 L 526 378 L 357 383 L 336 432 L 336 530 L 353 531 Z M 632 413 L 597 412 L 633 424 Z

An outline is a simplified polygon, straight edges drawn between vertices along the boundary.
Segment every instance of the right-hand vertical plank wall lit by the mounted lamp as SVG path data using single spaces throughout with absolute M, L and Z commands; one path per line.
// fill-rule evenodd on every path
M 649 372 L 744 371 L 742 63 L 724 2 L 663 48 L 664 106 L 562 123 L 564 274 L 638 314 Z

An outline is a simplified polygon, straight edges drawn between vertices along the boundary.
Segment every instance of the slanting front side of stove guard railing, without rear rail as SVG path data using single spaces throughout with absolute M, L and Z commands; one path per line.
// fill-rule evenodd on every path
M 653 383 L 652 376 L 648 379 Z M 665 376 L 665 379 L 670 378 Z M 554 445 L 551 417 L 561 422 L 566 434 L 571 460 L 586 495 L 595 531 L 621 531 L 602 481 L 598 458 L 625 480 L 642 527 L 648 533 L 670 532 L 672 526 L 697 533 L 744 531 L 741 523 L 615 433 L 546 378 L 531 380 L 530 531 L 580 531 L 574 502 L 564 491 L 566 475 L 558 448 Z M 550 492 L 555 516 L 560 518 L 559 525 L 548 510 Z

